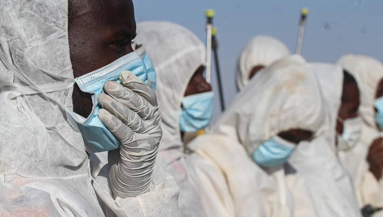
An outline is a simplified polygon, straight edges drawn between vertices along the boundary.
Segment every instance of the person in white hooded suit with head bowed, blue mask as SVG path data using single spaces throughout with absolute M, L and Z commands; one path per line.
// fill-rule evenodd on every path
M 302 57 L 257 73 L 211 132 L 190 144 L 189 175 L 207 214 L 360 216 L 329 144 L 329 133 L 335 138 L 329 121 L 314 70 Z

